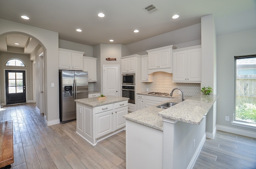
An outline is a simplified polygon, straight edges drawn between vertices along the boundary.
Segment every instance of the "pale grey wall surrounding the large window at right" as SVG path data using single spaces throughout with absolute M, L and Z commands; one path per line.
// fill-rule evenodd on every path
M 256 29 L 217 36 L 217 125 L 227 127 L 226 130 L 233 128 L 255 132 L 255 129 L 231 124 L 234 111 L 234 56 L 251 54 L 256 54 Z M 225 121 L 225 116 L 229 116 L 230 121 Z

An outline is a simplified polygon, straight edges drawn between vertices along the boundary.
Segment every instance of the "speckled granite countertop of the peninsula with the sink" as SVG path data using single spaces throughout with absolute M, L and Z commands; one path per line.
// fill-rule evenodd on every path
M 174 98 L 170 98 L 170 100 L 160 104 L 156 104 L 154 106 L 126 114 L 124 115 L 124 118 L 152 128 L 156 128 L 158 130 L 163 130 L 162 117 L 186 122 L 189 124 L 199 125 L 217 98 L 218 95 L 214 94 L 199 94 L 196 96 L 185 96 L 186 100 L 181 102 L 181 96 L 175 95 Z M 156 107 L 166 102 L 179 103 L 167 109 Z

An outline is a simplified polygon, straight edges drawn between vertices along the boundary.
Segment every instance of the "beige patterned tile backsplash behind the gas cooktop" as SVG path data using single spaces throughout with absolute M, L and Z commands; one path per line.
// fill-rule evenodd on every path
M 166 72 L 155 72 L 153 82 L 146 83 L 149 92 L 170 93 L 174 88 L 181 88 L 185 96 L 195 96 L 200 94 L 201 83 L 172 83 L 172 74 Z M 146 90 L 145 90 L 146 91 Z M 178 94 L 175 90 L 174 94 Z

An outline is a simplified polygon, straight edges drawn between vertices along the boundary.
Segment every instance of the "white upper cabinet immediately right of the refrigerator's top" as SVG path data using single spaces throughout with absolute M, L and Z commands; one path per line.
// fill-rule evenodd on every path
M 96 82 L 97 58 L 84 56 L 84 71 L 88 72 L 88 82 Z

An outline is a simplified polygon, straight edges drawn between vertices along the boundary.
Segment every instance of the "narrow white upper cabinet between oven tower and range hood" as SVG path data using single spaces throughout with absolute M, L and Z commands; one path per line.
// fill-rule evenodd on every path
M 141 81 L 153 82 L 153 76 L 148 74 L 148 55 L 141 57 Z

